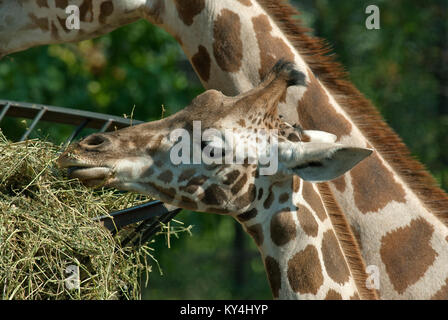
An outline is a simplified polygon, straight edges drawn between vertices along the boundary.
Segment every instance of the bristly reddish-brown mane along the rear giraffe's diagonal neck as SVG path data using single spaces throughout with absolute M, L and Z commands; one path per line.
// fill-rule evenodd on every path
M 257 1 L 377 152 L 423 204 L 448 226 L 448 195 L 425 166 L 411 155 L 378 109 L 348 80 L 343 66 L 328 55 L 331 50 L 326 41 L 307 34 L 311 29 L 295 18 L 300 12 L 286 0 Z

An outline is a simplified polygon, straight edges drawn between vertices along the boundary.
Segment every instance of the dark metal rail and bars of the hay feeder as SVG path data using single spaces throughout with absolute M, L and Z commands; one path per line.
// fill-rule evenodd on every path
M 26 140 L 40 121 L 75 126 L 73 132 L 65 141 L 64 147 L 76 139 L 84 128 L 98 129 L 100 132 L 105 132 L 110 129 L 121 129 L 130 125 L 143 123 L 143 121 L 103 113 L 1 99 L 0 110 L 0 124 L 5 117 L 33 119 L 20 141 Z M 109 215 L 97 217 L 94 220 L 102 223 L 113 233 L 130 224 L 141 222 L 135 229 L 134 235 L 122 241 L 122 245 L 126 245 L 129 242 L 132 242 L 133 245 L 138 245 L 154 236 L 160 230 L 161 224 L 169 222 L 180 210 L 180 208 L 156 200 L 112 212 Z

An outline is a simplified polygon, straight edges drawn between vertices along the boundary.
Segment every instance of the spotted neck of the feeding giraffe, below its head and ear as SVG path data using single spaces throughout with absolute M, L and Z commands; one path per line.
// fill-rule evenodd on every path
M 326 209 L 315 206 L 317 187 L 297 178 L 266 185 L 236 218 L 259 248 L 274 298 L 376 299 L 356 278 Z

